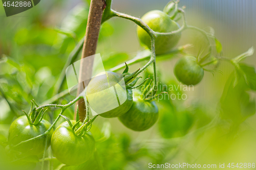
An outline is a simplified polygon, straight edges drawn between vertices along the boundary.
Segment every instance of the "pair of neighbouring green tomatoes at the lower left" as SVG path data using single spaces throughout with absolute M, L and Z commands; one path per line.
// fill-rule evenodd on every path
M 75 120 L 71 123 L 76 127 Z M 78 122 L 79 123 L 79 122 Z M 42 119 L 37 125 L 33 125 L 29 118 L 24 116 L 18 117 L 11 124 L 8 136 L 8 150 L 14 151 L 19 157 L 38 156 L 44 153 L 51 144 L 54 156 L 67 165 L 78 165 L 86 162 L 95 150 L 95 140 L 91 132 L 82 132 L 77 135 L 68 122 L 60 124 L 55 131 L 50 131 L 47 135 L 30 140 L 28 142 L 20 142 L 31 139 L 38 135 L 44 134 L 51 124 Z M 46 147 L 47 143 L 47 148 Z

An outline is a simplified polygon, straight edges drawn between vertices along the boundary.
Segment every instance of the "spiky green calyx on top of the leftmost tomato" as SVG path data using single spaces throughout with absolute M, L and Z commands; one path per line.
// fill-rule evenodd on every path
M 33 100 L 33 102 L 31 101 L 31 108 L 29 110 L 29 113 L 25 112 L 24 110 L 22 110 L 25 115 L 28 118 L 28 122 L 31 125 L 37 125 L 41 122 L 42 118 L 45 115 L 45 112 L 47 111 L 47 109 L 44 111 L 44 108 L 42 108 L 39 112 L 36 110 L 37 107 L 34 107 L 33 109 L 33 103 L 38 107 L 38 105 L 35 103 L 35 101 Z

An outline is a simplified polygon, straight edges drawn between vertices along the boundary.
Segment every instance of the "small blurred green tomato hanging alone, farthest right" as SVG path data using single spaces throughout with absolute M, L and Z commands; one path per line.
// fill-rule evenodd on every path
M 174 74 L 181 83 L 196 85 L 203 79 L 204 70 L 195 57 L 184 56 L 176 63 Z

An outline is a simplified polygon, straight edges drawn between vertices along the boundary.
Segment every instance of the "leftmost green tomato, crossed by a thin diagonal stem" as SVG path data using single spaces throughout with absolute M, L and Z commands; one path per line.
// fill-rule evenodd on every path
M 18 117 L 13 121 L 9 129 L 8 142 L 10 147 L 46 132 L 50 126 L 51 124 L 45 119 L 42 119 L 37 125 L 31 125 L 29 124 L 28 118 L 25 115 Z M 50 145 L 52 133 L 53 130 L 51 130 L 48 134 L 48 147 Z M 15 148 L 15 150 L 26 155 L 39 155 L 44 152 L 45 145 L 46 136 L 42 136 L 20 145 L 19 147 Z

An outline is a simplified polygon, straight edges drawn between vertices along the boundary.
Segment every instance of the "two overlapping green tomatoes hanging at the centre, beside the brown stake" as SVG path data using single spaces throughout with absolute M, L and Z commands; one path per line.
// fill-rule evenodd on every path
M 134 131 L 144 131 L 152 127 L 158 118 L 156 104 L 140 99 L 137 91 L 133 96 L 132 90 L 126 89 L 120 82 L 120 76 L 115 72 L 96 75 L 87 88 L 91 108 L 97 110 L 96 113 L 102 117 L 119 117 L 123 125 Z M 126 96 L 123 103 L 115 105 L 115 100 L 122 101 L 122 96 Z

